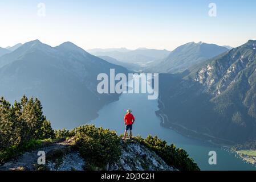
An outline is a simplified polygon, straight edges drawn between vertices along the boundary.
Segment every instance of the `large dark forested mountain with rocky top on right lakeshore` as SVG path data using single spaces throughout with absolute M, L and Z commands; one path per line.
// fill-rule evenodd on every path
M 256 40 L 190 73 L 160 75 L 159 90 L 165 126 L 225 143 L 256 139 Z

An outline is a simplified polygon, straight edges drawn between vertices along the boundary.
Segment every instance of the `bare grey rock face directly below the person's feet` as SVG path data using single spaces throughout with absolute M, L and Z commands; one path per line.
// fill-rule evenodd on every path
M 108 164 L 109 171 L 173 171 L 155 152 L 138 142 L 121 142 L 122 152 L 118 162 Z

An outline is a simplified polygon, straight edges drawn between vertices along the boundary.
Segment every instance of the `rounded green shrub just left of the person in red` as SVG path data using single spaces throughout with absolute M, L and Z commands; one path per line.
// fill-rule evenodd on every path
M 107 163 L 115 162 L 121 154 L 120 139 L 115 131 L 85 125 L 75 132 L 75 147 L 94 169 L 104 169 Z

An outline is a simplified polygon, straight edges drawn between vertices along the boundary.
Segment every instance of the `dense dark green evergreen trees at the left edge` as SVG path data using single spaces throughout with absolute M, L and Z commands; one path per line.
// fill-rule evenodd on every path
M 51 123 L 43 115 L 43 107 L 37 98 L 26 96 L 11 105 L 0 98 L 0 163 L 27 145 L 54 138 Z

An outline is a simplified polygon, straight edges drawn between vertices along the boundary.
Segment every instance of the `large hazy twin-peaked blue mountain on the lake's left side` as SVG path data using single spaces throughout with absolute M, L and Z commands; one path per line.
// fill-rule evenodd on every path
M 39 40 L 0 57 L 0 65 L 0 96 L 12 102 L 23 94 L 38 97 L 52 126 L 68 129 L 90 121 L 103 105 L 118 99 L 117 94 L 97 93 L 99 73 L 109 75 L 111 68 L 128 72 L 70 42 L 51 47 Z

